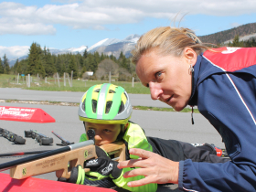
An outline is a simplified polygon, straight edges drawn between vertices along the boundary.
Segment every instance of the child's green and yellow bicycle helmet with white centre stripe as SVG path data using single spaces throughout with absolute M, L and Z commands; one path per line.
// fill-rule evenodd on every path
M 80 121 L 101 124 L 125 124 L 133 108 L 121 86 L 104 83 L 92 86 L 80 100 Z

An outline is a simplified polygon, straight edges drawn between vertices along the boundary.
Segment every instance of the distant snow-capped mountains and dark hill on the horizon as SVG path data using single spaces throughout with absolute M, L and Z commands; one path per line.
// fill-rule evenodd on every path
M 256 38 L 256 23 L 242 25 L 240 27 L 234 27 L 229 30 L 220 31 L 218 33 L 210 34 L 207 36 L 199 37 L 202 42 L 204 43 L 212 43 L 212 44 L 219 44 L 225 45 L 232 41 L 232 39 L 239 35 L 240 40 L 249 40 L 252 37 Z M 56 49 L 56 48 L 49 48 L 51 54 L 65 54 L 65 53 L 72 53 L 72 54 L 83 54 L 84 50 L 87 49 L 87 52 L 93 53 L 98 51 L 100 54 L 103 53 L 104 55 L 113 55 L 116 58 L 119 58 L 121 51 L 126 56 L 126 58 L 131 56 L 131 50 L 134 48 L 136 42 L 139 39 L 139 35 L 133 34 L 124 39 L 120 40 L 117 38 L 105 38 L 101 41 L 97 42 L 90 48 L 87 46 L 81 46 L 80 48 L 64 48 L 64 49 Z M 27 55 L 18 58 L 26 59 Z M 16 62 L 16 59 L 9 59 L 10 66 L 13 66 Z

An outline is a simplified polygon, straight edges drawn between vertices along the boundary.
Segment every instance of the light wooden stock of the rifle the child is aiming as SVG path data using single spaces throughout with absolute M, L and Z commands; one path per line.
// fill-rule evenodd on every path
M 74 144 L 69 146 L 72 145 Z M 118 161 L 125 160 L 125 145 L 123 142 L 104 144 L 101 148 L 109 155 L 114 155 L 115 159 Z M 37 176 L 55 171 L 57 177 L 69 178 L 73 167 L 77 165 L 83 167 L 84 161 L 91 158 L 98 158 L 94 144 L 13 166 L 10 169 L 10 176 L 16 179 L 23 179 L 29 176 Z M 90 171 L 90 169 L 85 168 L 85 172 L 88 171 Z

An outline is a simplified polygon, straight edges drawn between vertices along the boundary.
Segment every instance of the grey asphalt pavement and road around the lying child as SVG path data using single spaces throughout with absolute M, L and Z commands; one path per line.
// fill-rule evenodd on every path
M 81 92 L 23 91 L 21 89 L 7 88 L 0 89 L 0 92 L 0 99 L 18 99 L 29 101 L 34 100 L 78 102 L 76 100 L 80 100 L 80 97 L 82 95 Z M 4 93 L 2 94 L 2 92 Z M 134 101 L 132 102 L 142 102 L 139 99 L 141 95 L 139 95 L 137 101 L 136 95 L 134 96 Z M 59 135 L 61 135 L 63 138 L 75 143 L 79 141 L 80 134 L 84 133 L 83 125 L 78 117 L 78 107 L 10 102 L 2 102 L 0 103 L 0 106 L 40 108 L 45 112 L 48 112 L 48 114 L 56 120 L 56 123 L 22 123 L 12 121 L 0 121 L 1 128 L 5 128 L 18 135 L 24 136 L 24 131 L 34 129 L 40 133 L 53 137 L 54 139 L 54 144 L 49 146 L 40 146 L 31 138 L 27 138 L 26 144 L 17 145 L 9 142 L 8 140 L 0 136 L 1 154 L 57 148 L 59 146 L 57 146 L 56 144 L 59 144 L 60 140 L 55 137 L 51 133 L 51 131 L 59 133 Z M 208 123 L 208 120 L 206 120 L 199 113 L 194 114 L 194 125 L 191 124 L 190 112 L 154 112 L 133 110 L 133 116 L 131 120 L 134 123 L 140 124 L 144 128 L 144 131 L 148 136 L 155 136 L 163 139 L 175 139 L 187 143 L 216 144 L 219 147 L 224 147 L 224 144 L 222 144 L 221 142 L 221 137 L 219 136 L 219 133 L 217 133 L 217 131 L 215 131 L 211 124 Z M 10 160 L 14 160 L 16 158 L 18 157 L 0 158 L 0 164 Z M 5 171 L 4 173 L 9 173 L 9 171 Z M 36 177 L 56 180 L 56 176 L 54 173 L 49 173 Z M 176 187 L 176 185 L 159 187 L 158 191 L 178 191 Z

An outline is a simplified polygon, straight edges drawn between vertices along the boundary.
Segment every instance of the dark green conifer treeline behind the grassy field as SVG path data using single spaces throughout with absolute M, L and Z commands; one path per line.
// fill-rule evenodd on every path
M 232 42 L 227 45 L 229 47 L 256 47 L 255 38 L 247 41 L 240 41 L 237 35 Z M 10 67 L 6 55 L 0 58 L 0 74 L 30 74 L 40 78 L 63 77 L 64 73 L 71 76 L 73 71 L 73 79 L 90 79 L 90 80 L 109 80 L 111 72 L 112 79 L 119 81 L 138 80 L 135 72 L 135 66 L 130 58 L 125 58 L 123 52 L 120 53 L 118 59 L 113 55 L 108 56 L 98 52 L 88 53 L 85 49 L 82 54 L 59 54 L 54 55 L 49 52 L 48 48 L 41 48 L 39 44 L 32 43 L 29 48 L 27 59 L 18 60 L 14 66 Z M 89 76 L 86 71 L 92 71 L 93 76 Z

